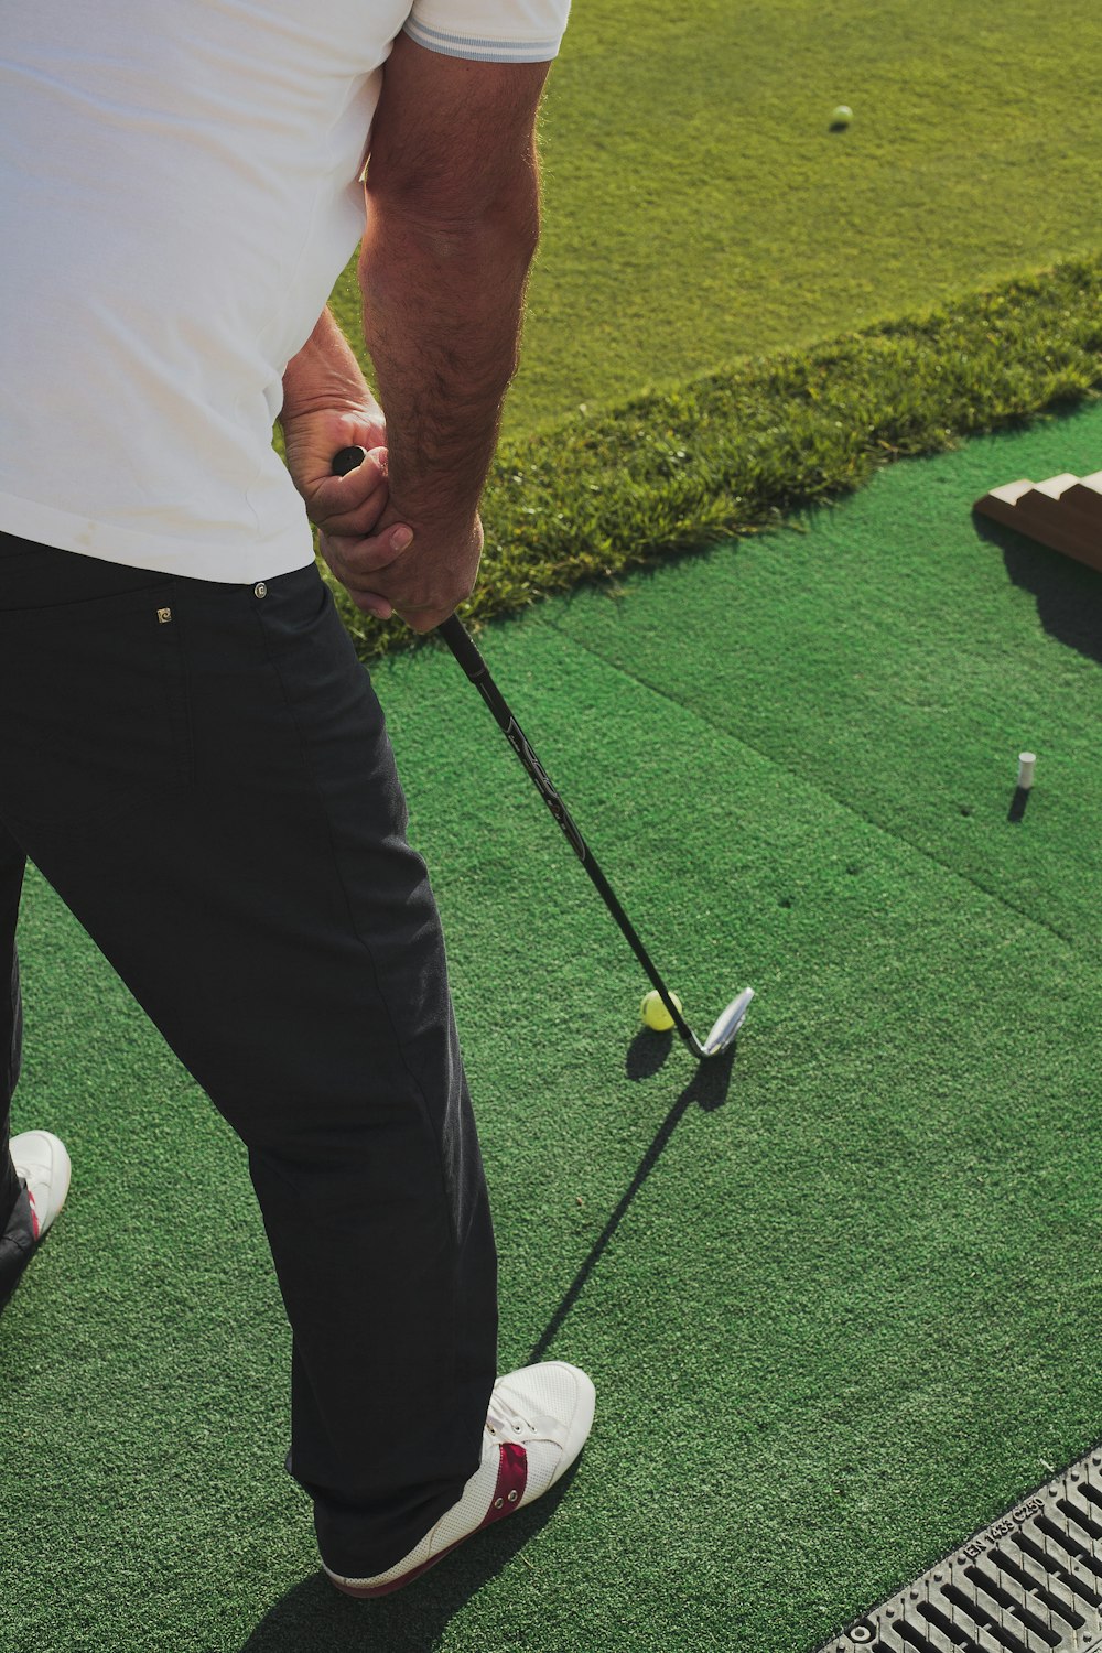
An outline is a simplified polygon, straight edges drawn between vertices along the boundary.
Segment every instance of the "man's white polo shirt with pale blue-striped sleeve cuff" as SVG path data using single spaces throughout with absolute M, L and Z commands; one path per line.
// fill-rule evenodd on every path
M 271 446 L 363 233 L 382 64 L 557 56 L 570 0 L 3 0 L 0 531 L 203 580 L 314 560 Z

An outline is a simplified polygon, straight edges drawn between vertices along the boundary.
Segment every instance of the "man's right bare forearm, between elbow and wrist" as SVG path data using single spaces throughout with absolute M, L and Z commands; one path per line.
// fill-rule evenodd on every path
M 390 493 L 423 521 L 477 509 L 517 370 L 539 179 L 477 223 L 372 200 L 360 251 L 363 334 L 387 412 Z

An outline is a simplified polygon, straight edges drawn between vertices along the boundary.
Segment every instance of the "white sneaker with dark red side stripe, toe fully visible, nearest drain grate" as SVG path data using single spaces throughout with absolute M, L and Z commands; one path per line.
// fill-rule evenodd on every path
M 499 1377 L 482 1430 L 482 1465 L 459 1503 L 388 1572 L 344 1579 L 322 1562 L 324 1570 L 345 1595 L 388 1595 L 420 1579 L 473 1532 L 532 1504 L 567 1473 L 593 1425 L 595 1398 L 585 1372 L 565 1360 Z

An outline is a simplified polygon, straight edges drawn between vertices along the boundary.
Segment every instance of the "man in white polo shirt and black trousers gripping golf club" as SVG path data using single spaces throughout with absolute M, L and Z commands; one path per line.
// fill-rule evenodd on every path
M 354 1595 L 540 1496 L 593 1417 L 565 1362 L 496 1380 L 439 921 L 307 526 L 367 612 L 469 595 L 567 7 L 0 13 L 0 1119 L 30 856 L 248 1146 L 287 1470 Z M 382 407 L 324 307 L 360 238 Z M 68 1187 L 50 1132 L 12 1147 L 0 1298 Z

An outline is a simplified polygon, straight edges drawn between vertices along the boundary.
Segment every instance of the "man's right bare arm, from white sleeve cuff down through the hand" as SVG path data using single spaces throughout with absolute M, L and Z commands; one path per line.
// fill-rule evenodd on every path
M 363 336 L 387 412 L 387 567 L 322 547 L 360 607 L 416 631 L 454 612 L 482 550 L 477 506 L 517 370 L 540 233 L 535 122 L 549 63 L 474 63 L 395 40 L 372 127 L 359 260 Z

